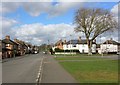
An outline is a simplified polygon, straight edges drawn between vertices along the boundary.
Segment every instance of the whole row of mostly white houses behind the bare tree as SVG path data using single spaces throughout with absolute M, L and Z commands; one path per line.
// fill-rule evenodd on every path
M 96 40 L 92 43 L 92 53 L 117 53 L 120 50 L 120 43 L 114 41 L 112 38 L 101 44 L 97 44 Z M 81 39 L 81 37 L 76 40 L 69 41 L 59 40 L 56 42 L 53 50 L 55 48 L 59 48 L 61 50 L 79 50 L 80 53 L 88 53 L 87 41 L 85 39 Z

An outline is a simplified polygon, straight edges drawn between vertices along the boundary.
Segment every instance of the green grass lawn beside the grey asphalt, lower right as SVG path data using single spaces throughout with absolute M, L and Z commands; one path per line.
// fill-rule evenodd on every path
M 96 57 L 57 57 L 55 59 L 80 83 L 118 82 L 118 60 Z

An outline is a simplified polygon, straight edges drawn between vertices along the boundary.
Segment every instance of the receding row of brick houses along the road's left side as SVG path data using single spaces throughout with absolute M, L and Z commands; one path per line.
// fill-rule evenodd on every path
M 10 36 L 6 36 L 0 42 L 2 44 L 2 59 L 29 54 L 36 48 L 36 46 L 18 39 L 11 40 Z

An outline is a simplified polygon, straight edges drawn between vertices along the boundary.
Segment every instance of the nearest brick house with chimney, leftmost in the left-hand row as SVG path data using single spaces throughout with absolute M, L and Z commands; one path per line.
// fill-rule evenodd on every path
M 15 57 L 17 52 L 18 44 L 10 39 L 10 36 L 6 36 L 2 40 L 2 57 L 11 58 Z

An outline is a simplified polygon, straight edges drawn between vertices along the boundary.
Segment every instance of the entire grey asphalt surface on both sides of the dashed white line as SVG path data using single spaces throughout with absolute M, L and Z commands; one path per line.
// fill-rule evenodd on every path
M 2 75 L 2 83 L 76 83 L 53 56 L 43 53 L 3 60 Z

